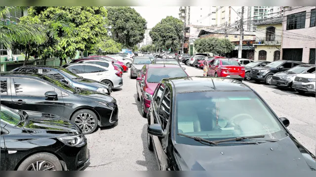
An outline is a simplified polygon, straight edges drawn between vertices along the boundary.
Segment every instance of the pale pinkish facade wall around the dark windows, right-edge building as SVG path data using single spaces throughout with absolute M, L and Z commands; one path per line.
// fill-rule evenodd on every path
M 314 7 L 308 6 L 308 7 L 303 7 L 303 8 L 298 8 L 298 7 L 292 7 L 293 10 L 289 10 L 288 8 L 285 8 L 284 11 L 284 20 L 283 20 L 283 38 L 282 38 L 282 49 L 294 49 L 294 48 L 303 48 L 303 58 L 302 62 L 309 62 L 309 57 L 310 57 L 310 49 L 311 48 L 316 48 L 316 27 L 310 27 L 310 12 L 311 9 L 315 9 Z M 286 20 L 287 20 L 287 15 L 298 13 L 298 12 L 303 12 L 306 11 L 306 21 L 305 21 L 305 28 L 304 29 L 291 29 L 291 30 L 286 30 Z M 293 34 L 296 33 L 296 34 Z M 295 37 L 298 39 L 295 39 L 293 35 L 305 35 L 305 36 L 311 36 L 313 38 L 305 38 L 304 36 L 302 37 Z M 303 39 L 303 40 L 302 40 Z M 281 50 L 281 56 L 280 58 L 282 59 L 282 53 L 283 51 Z

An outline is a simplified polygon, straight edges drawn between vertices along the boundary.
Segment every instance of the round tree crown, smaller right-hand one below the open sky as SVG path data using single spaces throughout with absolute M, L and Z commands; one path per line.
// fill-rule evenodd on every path
M 176 50 L 183 39 L 183 22 L 172 16 L 162 19 L 150 32 L 153 43 L 158 48 Z

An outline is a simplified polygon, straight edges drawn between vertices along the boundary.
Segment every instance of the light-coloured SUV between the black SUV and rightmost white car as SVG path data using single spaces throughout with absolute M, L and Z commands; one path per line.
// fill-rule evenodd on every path
M 282 71 L 272 76 L 271 85 L 281 88 L 292 88 L 295 76 L 298 74 L 312 73 L 316 70 L 315 64 L 300 64 L 287 71 Z

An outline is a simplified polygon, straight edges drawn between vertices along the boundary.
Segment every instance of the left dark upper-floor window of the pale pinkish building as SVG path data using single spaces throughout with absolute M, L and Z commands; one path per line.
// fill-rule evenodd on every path
M 288 15 L 286 30 L 305 28 L 306 11 Z

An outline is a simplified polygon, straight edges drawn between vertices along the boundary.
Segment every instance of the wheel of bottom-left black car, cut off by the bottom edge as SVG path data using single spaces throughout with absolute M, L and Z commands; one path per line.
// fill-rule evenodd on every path
M 26 158 L 18 171 L 62 171 L 59 159 L 47 152 L 36 153 Z

